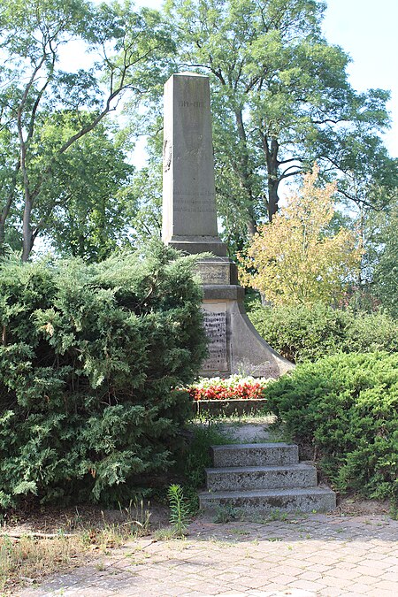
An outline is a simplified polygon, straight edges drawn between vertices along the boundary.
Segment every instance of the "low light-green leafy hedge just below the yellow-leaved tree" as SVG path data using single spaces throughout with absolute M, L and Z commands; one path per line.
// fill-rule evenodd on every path
M 339 352 L 398 351 L 398 320 L 387 313 L 355 313 L 322 304 L 262 307 L 249 312 L 258 333 L 295 363 Z

